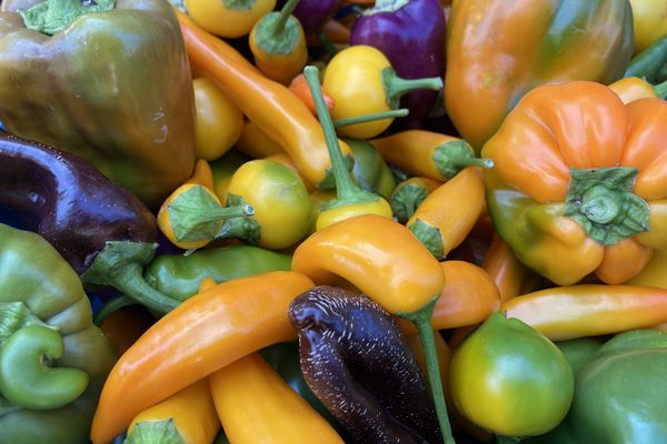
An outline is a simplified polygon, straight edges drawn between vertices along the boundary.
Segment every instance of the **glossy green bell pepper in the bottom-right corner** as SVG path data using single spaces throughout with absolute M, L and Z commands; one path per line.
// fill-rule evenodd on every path
M 649 444 L 667 440 L 667 334 L 629 331 L 601 346 L 579 344 L 576 356 L 577 362 L 570 361 L 576 369 L 575 395 L 565 421 L 526 444 Z

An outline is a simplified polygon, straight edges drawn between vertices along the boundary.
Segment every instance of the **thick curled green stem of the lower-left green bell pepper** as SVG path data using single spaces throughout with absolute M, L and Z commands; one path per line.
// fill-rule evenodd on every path
M 46 364 L 57 360 L 64 342 L 52 327 L 31 325 L 16 331 L 0 350 L 0 391 L 10 402 L 31 410 L 62 407 L 79 397 L 88 386 L 80 369 Z

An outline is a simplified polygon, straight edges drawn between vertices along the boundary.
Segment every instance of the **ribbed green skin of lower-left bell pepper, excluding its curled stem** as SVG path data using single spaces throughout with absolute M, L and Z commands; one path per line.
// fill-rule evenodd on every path
M 0 224 L 0 304 L 22 303 L 29 316 L 58 329 L 64 354 L 51 366 L 80 369 L 89 376 L 81 396 L 54 410 L 14 410 L 0 393 L 0 442 L 86 444 L 102 384 L 116 361 L 111 343 L 92 324 L 79 276 L 43 238 Z M 0 316 L 0 349 L 8 329 L 26 324 L 6 306 Z M 12 325 L 12 321 L 19 323 Z

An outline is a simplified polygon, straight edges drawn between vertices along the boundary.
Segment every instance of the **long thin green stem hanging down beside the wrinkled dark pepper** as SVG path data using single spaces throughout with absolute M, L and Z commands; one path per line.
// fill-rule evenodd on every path
M 431 317 L 434 315 L 434 309 L 439 295 L 434 296 L 426 305 L 421 309 L 416 310 L 411 313 L 397 313 L 398 316 L 405 317 L 411 321 L 417 327 L 419 339 L 421 340 L 421 349 L 424 350 L 424 357 L 426 359 L 426 367 L 428 370 L 428 381 L 431 386 L 431 394 L 434 396 L 434 404 L 436 405 L 436 413 L 438 415 L 438 422 L 440 423 L 440 432 L 442 433 L 442 441 L 445 444 L 455 444 L 454 436 L 451 435 L 451 426 L 449 425 L 449 417 L 447 416 L 447 404 L 445 404 L 445 391 L 442 390 L 442 380 L 440 380 L 440 367 L 438 365 L 438 355 L 436 352 L 436 339 L 434 336 L 434 329 L 431 326 Z

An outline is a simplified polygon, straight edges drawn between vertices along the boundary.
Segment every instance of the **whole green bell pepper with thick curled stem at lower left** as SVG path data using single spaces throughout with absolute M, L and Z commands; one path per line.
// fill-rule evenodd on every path
M 0 442 L 87 443 L 116 353 L 53 246 L 3 224 L 0 244 Z

